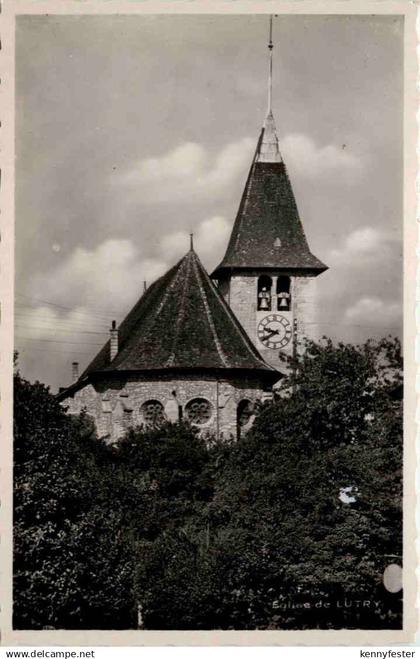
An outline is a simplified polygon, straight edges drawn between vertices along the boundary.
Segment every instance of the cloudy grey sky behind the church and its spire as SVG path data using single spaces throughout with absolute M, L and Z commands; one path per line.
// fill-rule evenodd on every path
M 222 259 L 267 106 L 264 15 L 19 16 L 15 348 L 57 391 L 189 248 Z M 403 22 L 282 16 L 273 113 L 334 340 L 400 335 Z

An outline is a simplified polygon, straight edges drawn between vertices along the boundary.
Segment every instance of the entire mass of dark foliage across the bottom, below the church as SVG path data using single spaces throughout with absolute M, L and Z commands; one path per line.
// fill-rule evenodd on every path
M 114 449 L 18 377 L 18 626 L 401 626 L 399 342 L 290 366 L 239 441 L 168 424 Z

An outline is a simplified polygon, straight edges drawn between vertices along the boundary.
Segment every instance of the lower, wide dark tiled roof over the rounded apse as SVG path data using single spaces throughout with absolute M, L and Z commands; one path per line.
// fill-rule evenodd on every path
M 198 256 L 189 251 L 144 293 L 119 327 L 119 351 L 109 341 L 80 380 L 98 372 L 257 370 L 278 379 L 225 303 Z

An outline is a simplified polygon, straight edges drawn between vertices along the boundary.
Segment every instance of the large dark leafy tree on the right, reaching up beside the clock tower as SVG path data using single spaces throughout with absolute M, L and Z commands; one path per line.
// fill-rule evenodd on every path
M 399 342 L 308 343 L 291 367 L 248 435 L 210 450 L 211 499 L 143 549 L 146 627 L 401 626 L 382 586 L 402 551 Z

